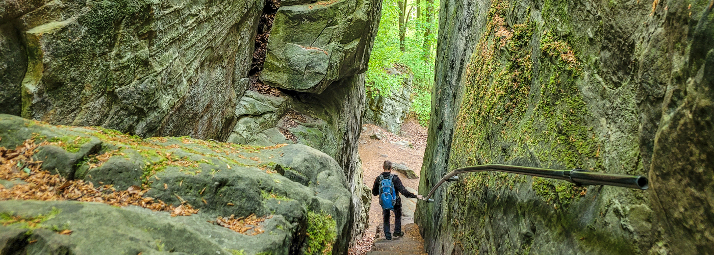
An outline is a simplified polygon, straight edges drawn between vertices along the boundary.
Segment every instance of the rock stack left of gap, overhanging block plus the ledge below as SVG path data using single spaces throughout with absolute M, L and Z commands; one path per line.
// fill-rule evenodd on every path
M 366 226 L 368 204 L 357 139 L 365 108 L 364 78 L 381 16 L 381 0 L 282 1 L 271 24 L 256 84 L 236 107 L 228 141 L 306 144 L 332 156 L 353 194 L 349 241 Z M 266 87 L 272 90 L 265 93 Z M 275 89 L 275 88 L 280 88 Z M 336 246 L 336 254 L 347 252 Z

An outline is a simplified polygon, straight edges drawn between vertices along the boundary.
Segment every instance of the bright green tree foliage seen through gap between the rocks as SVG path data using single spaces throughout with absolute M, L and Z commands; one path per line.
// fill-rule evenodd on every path
M 416 1 L 409 1 L 410 8 L 408 9 L 411 9 L 414 4 L 416 4 Z M 431 88 L 433 87 L 435 59 L 433 56 L 436 54 L 436 48 L 432 47 L 431 52 L 428 52 L 431 58 L 425 61 L 424 56 L 427 52 L 424 49 L 424 31 L 426 28 L 431 29 L 432 33 L 426 40 L 432 46 L 436 46 L 438 30 L 438 13 L 433 21 L 427 22 L 426 4 L 428 4 L 428 1 L 421 1 L 422 14 L 418 19 L 416 18 L 416 12 L 411 12 L 410 20 L 406 24 L 405 51 L 401 51 L 399 49 L 398 28 L 400 10 L 397 6 L 397 0 L 383 1 L 379 30 L 374 41 L 369 69 L 366 74 L 366 86 L 369 89 L 378 91 L 373 96 L 377 94 L 388 96 L 392 91 L 403 86 L 405 77 L 388 75 L 385 69 L 398 65 L 411 71 L 414 76 L 412 84 L 414 91 L 412 114 L 425 126 L 431 112 Z M 437 12 L 438 1 L 435 1 L 433 9 Z

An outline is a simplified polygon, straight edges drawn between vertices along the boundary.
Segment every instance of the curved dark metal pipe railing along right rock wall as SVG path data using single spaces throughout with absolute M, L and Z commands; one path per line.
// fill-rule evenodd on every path
M 459 169 L 451 171 L 451 173 L 446 174 L 439 180 L 439 182 L 431 188 L 429 194 L 423 199 L 429 203 L 434 200 L 431 199 L 436 189 L 441 186 L 446 181 L 458 181 L 457 174 L 463 174 L 468 172 L 479 172 L 479 171 L 501 171 L 511 174 L 525 174 L 530 176 L 538 176 L 550 179 L 560 179 L 563 181 L 570 181 L 573 184 L 578 185 L 609 185 L 609 186 L 619 186 L 630 189 L 648 189 L 649 181 L 645 176 L 631 176 L 626 174 L 605 174 L 587 171 L 583 169 L 571 169 L 571 170 L 553 170 L 553 169 L 541 169 L 537 167 L 528 166 L 508 166 L 502 164 L 487 164 L 481 166 L 466 166 Z

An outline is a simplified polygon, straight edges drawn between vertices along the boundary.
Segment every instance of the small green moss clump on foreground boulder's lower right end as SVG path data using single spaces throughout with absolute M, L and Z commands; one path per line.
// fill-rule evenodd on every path
M 330 214 L 308 211 L 308 238 L 303 248 L 305 254 L 332 254 L 332 246 L 337 238 L 336 226 Z

